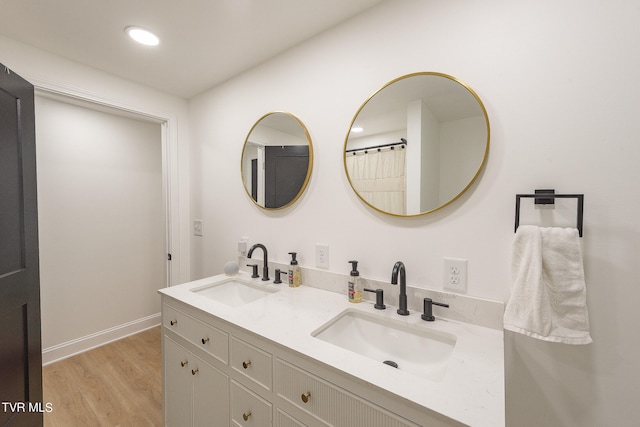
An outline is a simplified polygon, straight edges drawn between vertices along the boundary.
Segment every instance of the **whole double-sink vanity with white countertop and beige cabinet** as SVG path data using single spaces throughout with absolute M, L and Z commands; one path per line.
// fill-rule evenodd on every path
M 167 426 L 501 426 L 503 332 L 240 272 L 160 290 Z

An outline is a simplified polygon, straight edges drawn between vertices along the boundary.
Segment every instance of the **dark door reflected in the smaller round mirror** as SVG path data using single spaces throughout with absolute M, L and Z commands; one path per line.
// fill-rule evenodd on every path
M 296 199 L 307 179 L 309 147 L 266 146 L 264 164 L 265 206 L 281 208 Z

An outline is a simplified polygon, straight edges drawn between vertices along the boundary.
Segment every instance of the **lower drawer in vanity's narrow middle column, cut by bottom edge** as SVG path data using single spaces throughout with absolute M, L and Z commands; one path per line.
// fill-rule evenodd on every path
M 271 427 L 271 404 L 231 381 L 231 423 L 243 427 Z

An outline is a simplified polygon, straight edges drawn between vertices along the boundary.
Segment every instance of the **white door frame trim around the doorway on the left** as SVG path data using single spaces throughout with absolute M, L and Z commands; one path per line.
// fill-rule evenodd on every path
M 182 282 L 180 276 L 180 264 L 182 263 L 180 251 L 180 187 L 178 185 L 178 126 L 177 117 L 172 114 L 148 111 L 138 107 L 125 105 L 121 102 L 106 99 L 96 94 L 69 88 L 51 82 L 29 80 L 35 87 L 36 96 L 44 96 L 72 104 L 86 106 L 97 110 L 122 114 L 133 119 L 142 119 L 158 123 L 161 127 L 162 144 L 162 192 L 165 209 L 165 246 L 167 257 L 165 286 L 173 286 Z M 37 120 L 37 118 L 36 118 Z M 188 263 L 186 264 L 188 265 Z

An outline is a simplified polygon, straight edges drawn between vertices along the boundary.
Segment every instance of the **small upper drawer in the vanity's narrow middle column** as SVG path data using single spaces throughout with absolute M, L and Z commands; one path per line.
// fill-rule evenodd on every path
M 239 338 L 231 336 L 231 367 L 271 391 L 272 356 Z

